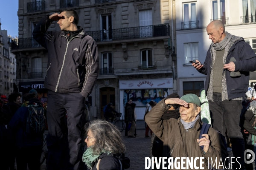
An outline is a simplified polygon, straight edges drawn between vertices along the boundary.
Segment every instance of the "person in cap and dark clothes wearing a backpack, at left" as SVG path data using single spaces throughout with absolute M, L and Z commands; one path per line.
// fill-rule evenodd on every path
M 44 104 L 38 99 L 37 91 L 31 90 L 24 96 L 25 102 L 19 108 L 9 123 L 15 135 L 16 142 L 16 162 L 18 170 L 41 170 L 41 152 L 43 147 L 43 134 L 31 136 L 26 133 L 26 122 L 28 118 L 28 105 Z

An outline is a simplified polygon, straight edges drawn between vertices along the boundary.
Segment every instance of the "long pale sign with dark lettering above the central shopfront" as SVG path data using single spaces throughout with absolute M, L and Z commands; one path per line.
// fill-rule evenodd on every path
M 120 80 L 119 89 L 173 88 L 173 79 Z

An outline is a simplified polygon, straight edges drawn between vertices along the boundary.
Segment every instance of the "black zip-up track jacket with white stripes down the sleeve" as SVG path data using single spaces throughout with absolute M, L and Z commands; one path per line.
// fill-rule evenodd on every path
M 52 22 L 47 15 L 33 31 L 33 38 L 48 50 L 44 88 L 87 98 L 99 72 L 96 42 L 84 30 L 68 41 L 64 31 L 47 31 Z

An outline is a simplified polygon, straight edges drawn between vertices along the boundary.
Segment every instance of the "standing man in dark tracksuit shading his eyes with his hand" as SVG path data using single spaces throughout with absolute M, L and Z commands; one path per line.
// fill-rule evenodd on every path
M 53 21 L 58 21 L 61 31 L 47 31 Z M 76 11 L 65 10 L 45 16 L 33 31 L 34 39 L 48 50 L 47 170 L 78 169 L 84 101 L 98 77 L 96 42 L 78 22 Z M 63 133 L 66 112 L 67 135 Z

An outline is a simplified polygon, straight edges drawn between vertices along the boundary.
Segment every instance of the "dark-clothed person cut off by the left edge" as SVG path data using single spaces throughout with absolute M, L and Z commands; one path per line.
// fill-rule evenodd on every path
M 2 111 L 0 108 L 0 169 L 12 169 L 13 155 L 15 155 L 15 142 L 12 130 L 8 125 L 12 119 L 12 114 Z

